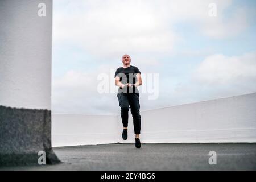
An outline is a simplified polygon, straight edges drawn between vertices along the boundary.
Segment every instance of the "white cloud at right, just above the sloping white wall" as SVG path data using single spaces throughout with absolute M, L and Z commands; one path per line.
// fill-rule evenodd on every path
M 169 79 L 169 80 L 168 80 Z M 209 55 L 186 77 L 166 78 L 155 105 L 179 105 L 256 92 L 256 52 Z

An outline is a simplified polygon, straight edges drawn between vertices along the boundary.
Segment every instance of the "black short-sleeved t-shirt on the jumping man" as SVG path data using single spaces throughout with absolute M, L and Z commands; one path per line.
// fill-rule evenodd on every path
M 137 67 L 134 67 L 132 65 L 130 65 L 130 67 L 128 68 L 117 68 L 117 71 L 115 72 L 115 77 L 118 76 L 120 77 L 120 81 L 122 84 L 135 84 L 137 82 L 137 78 L 136 75 L 137 73 L 141 72 L 139 71 L 139 69 Z M 118 89 L 118 93 L 139 93 L 138 89 L 133 87 L 127 87 L 127 90 L 119 88 Z

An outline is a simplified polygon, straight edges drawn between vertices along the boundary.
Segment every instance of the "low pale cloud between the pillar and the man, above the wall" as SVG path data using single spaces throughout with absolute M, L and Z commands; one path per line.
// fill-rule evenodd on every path
M 97 76 L 110 74 L 107 65 L 94 72 L 68 71 L 64 76 L 52 80 L 53 113 L 75 114 L 117 114 L 118 100 L 116 94 L 100 94 L 97 91 Z M 114 86 L 114 76 L 109 75 L 109 85 Z M 114 102 L 115 101 L 115 102 Z

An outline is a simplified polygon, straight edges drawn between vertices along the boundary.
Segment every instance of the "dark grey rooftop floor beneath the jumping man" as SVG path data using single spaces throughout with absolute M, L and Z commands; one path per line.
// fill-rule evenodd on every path
M 256 170 L 256 143 L 100 144 L 56 147 L 57 165 L 1 167 L 1 170 Z M 217 164 L 210 165 L 209 151 Z

